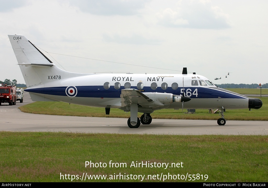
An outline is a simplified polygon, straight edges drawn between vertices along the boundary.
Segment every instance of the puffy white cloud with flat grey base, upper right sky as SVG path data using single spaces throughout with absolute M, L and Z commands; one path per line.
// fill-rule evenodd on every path
M 211 1 L 182 0 L 176 8 L 167 8 L 157 14 L 158 23 L 165 27 L 225 29 L 230 28 L 228 15 Z

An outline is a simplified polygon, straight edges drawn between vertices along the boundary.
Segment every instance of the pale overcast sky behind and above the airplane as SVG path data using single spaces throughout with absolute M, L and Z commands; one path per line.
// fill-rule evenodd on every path
M 267 10 L 267 0 L 0 0 L 0 80 L 25 83 L 8 39 L 18 34 L 70 72 L 187 67 L 215 84 L 268 83 Z

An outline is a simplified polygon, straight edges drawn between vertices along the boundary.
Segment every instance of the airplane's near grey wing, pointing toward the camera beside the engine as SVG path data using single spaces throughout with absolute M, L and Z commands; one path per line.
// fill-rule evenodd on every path
M 148 104 L 154 102 L 150 97 L 136 89 L 122 89 L 120 97 L 122 107 L 131 103 Z

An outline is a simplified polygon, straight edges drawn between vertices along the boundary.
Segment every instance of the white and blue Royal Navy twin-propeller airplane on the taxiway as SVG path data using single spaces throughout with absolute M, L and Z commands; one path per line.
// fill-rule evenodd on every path
M 8 35 L 32 101 L 119 108 L 130 112 L 128 126 L 150 124 L 155 110 L 219 109 L 218 125 L 225 125 L 225 109 L 259 109 L 262 101 L 215 86 L 201 75 L 73 73 L 58 68 L 23 35 Z M 138 112 L 143 115 L 138 117 Z

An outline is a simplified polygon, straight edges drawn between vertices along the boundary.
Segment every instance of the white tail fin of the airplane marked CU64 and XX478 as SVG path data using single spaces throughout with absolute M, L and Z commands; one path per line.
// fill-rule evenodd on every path
M 27 87 L 88 75 L 59 69 L 23 35 L 8 36 Z

